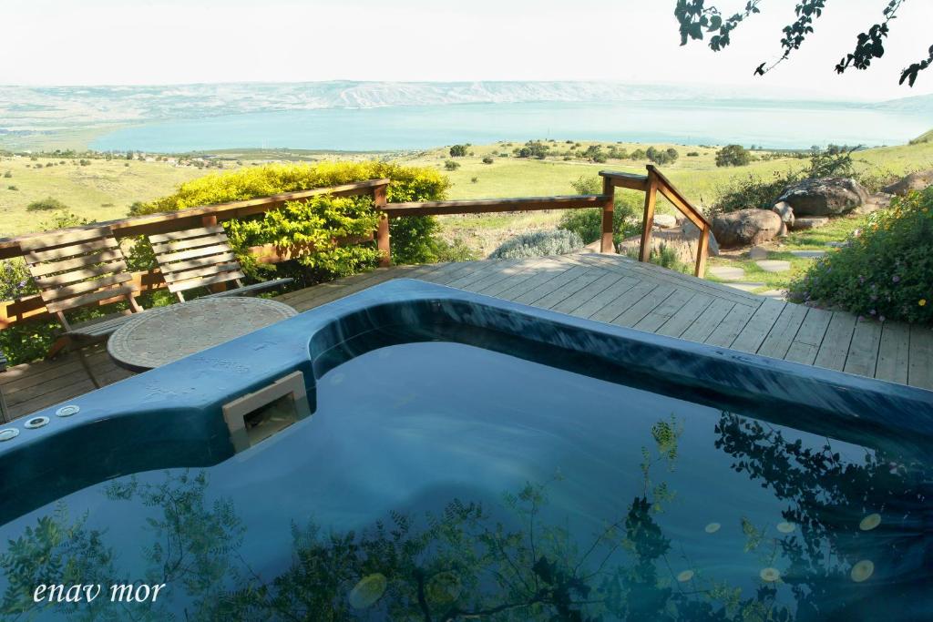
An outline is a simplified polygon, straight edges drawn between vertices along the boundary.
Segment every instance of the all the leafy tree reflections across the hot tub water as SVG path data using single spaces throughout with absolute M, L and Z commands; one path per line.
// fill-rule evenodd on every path
M 155 509 L 146 523 L 152 544 L 143 551 L 145 569 L 124 581 L 168 583 L 178 601 L 134 608 L 107 602 L 112 609 L 102 604 L 94 615 L 87 605 L 59 611 L 88 619 L 167 619 L 170 605 L 183 604 L 186 619 L 231 621 L 792 619 L 792 611 L 778 603 L 780 581 L 762 580 L 743 598 L 739 587 L 702 572 L 675 574 L 674 565 L 682 564 L 671 558 L 683 556 L 656 517 L 675 499 L 663 473 L 675 468 L 681 433 L 673 417 L 652 426 L 653 447 L 643 450 L 641 463 L 642 493 L 585 542 L 547 518 L 548 493 L 561 485 L 555 477 L 505 495 L 508 519 L 453 500 L 439 513 L 421 519 L 395 513 L 360 532 L 295 525 L 291 563 L 274 577 L 255 572 L 242 558 L 244 526 L 230 501 L 206 502 L 203 474 L 169 474 L 158 485 L 133 478 L 116 482 L 107 487 L 111 500 Z M 849 568 L 866 539 L 840 528 L 842 514 L 906 511 L 912 507 L 906 495 L 918 482 L 903 477 L 902 467 L 891 472 L 880 459 L 842 464 L 829 449 L 803 449 L 728 413 L 717 433 L 717 447 L 738 459 L 736 470 L 762 479 L 794 504 L 785 518 L 800 530 L 787 537 L 769 540 L 744 520 L 749 550 L 773 546 L 773 560 L 781 547 L 790 560 L 781 578 L 791 587 L 800 619 L 815 617 L 824 603 L 841 606 L 841 595 L 855 585 Z M 857 523 L 858 518 L 856 531 Z M 909 546 L 901 527 L 895 532 L 892 526 L 891 536 L 898 546 Z M 920 534 L 912 533 L 918 544 Z M 117 556 L 103 536 L 87 530 L 83 518 L 70 520 L 63 509 L 27 529 L 0 557 L 8 582 L 3 613 L 28 617 L 23 612 L 31 611 L 32 602 L 26 590 L 37 583 L 66 583 L 66 576 L 89 583 L 91 576 L 109 584 L 127 575 L 115 569 Z

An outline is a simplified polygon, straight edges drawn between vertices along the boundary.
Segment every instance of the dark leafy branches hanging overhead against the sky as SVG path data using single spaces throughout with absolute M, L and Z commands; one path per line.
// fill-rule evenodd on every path
M 884 56 L 885 40 L 891 33 L 891 21 L 898 18 L 898 10 L 907 0 L 884 0 L 886 5 L 883 20 L 873 24 L 866 32 L 856 36 L 856 46 L 853 51 L 842 57 L 836 64 L 836 72 L 845 73 L 849 67 L 866 70 L 871 62 Z M 745 8 L 726 17 L 715 6 L 706 6 L 706 0 L 677 0 L 674 15 L 680 23 L 680 45 L 686 46 L 691 40 L 703 41 L 709 37 L 709 47 L 715 52 L 727 48 L 731 44 L 731 34 L 739 24 L 761 10 L 762 0 L 748 0 Z M 795 7 L 797 19 L 783 29 L 781 37 L 781 55 L 771 62 L 761 62 L 755 68 L 756 76 L 764 76 L 781 62 L 787 61 L 790 55 L 806 42 L 807 37 L 815 32 L 815 21 L 823 16 L 827 0 L 799 0 Z M 933 65 L 933 46 L 929 48 L 929 56 L 912 63 L 901 71 L 900 84 L 907 82 L 913 86 L 921 71 Z

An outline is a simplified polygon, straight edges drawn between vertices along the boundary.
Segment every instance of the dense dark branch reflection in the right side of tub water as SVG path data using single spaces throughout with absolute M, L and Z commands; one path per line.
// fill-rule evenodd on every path
M 799 619 L 825 619 L 830 611 L 849 619 L 930 615 L 925 464 L 889 449 L 866 451 L 861 464 L 846 462 L 829 439 L 820 449 L 806 448 L 731 413 L 723 413 L 717 434 L 716 447 L 736 459 L 736 472 L 789 503 L 784 518 L 799 529 L 779 540 L 790 562 L 781 578 L 792 589 Z M 856 581 L 864 576 L 857 564 L 865 561 L 878 569 L 870 593 Z

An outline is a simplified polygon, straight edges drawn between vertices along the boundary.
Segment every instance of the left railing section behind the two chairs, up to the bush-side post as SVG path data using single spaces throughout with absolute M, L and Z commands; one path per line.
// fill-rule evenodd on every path
M 187 210 L 179 210 L 178 212 L 132 216 L 130 218 L 110 220 L 103 223 L 94 223 L 86 227 L 67 228 L 63 229 L 63 231 L 77 231 L 80 229 L 106 226 L 113 231 L 114 236 L 118 240 L 138 235 L 184 231 L 189 228 L 211 227 L 217 223 L 234 218 L 257 216 L 258 214 L 263 214 L 282 207 L 285 205 L 286 201 L 310 199 L 321 195 L 350 197 L 372 194 L 376 197 L 378 203 L 380 194 L 382 194 L 384 201 L 385 188 L 388 185 L 388 179 L 371 179 L 365 182 L 345 184 L 343 186 L 286 192 L 284 194 L 263 197 L 261 199 L 238 200 L 230 203 L 192 207 Z M 0 259 L 22 256 L 20 242 L 34 237 L 35 235 L 36 234 L 22 235 L 16 238 L 0 239 Z M 371 240 L 371 237 L 369 240 Z M 353 240 L 347 242 L 360 241 Z M 251 247 L 249 250 L 253 255 L 258 257 L 259 261 L 272 264 L 290 259 L 296 252 L 296 249 L 278 248 L 272 244 Z M 162 280 L 162 275 L 159 270 L 133 272 L 132 279 L 139 290 L 144 292 L 165 287 L 165 282 Z M 26 319 L 40 319 L 48 315 L 49 312 L 46 311 L 42 298 L 38 296 L 27 296 L 0 302 L 0 328 L 5 328 L 8 325 Z

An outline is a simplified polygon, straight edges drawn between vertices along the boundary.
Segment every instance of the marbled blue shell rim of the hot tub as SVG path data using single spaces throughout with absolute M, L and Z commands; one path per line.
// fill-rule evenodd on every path
M 77 397 L 72 416 L 56 407 L 10 424 L 20 434 L 0 443 L 0 524 L 111 477 L 230 458 L 224 404 L 301 371 L 313 410 L 315 379 L 341 363 L 332 352 L 347 355 L 335 347 L 387 327 L 396 342 L 480 345 L 865 446 L 923 452 L 933 430 L 933 392 L 397 280 Z M 36 417 L 49 423 L 27 429 Z

